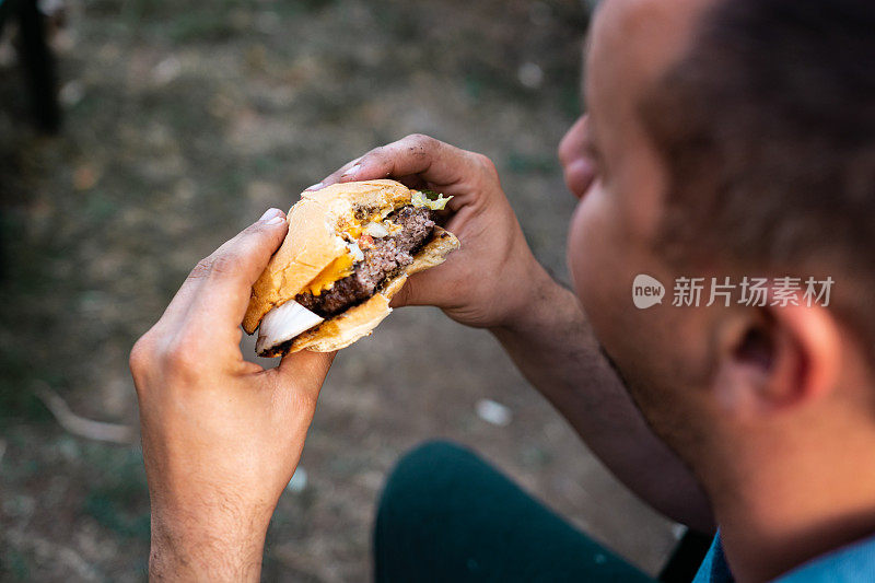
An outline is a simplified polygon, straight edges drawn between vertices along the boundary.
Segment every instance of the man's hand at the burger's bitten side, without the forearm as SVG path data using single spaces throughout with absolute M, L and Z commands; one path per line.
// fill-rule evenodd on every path
M 526 244 L 492 162 L 428 136 L 371 150 L 311 189 L 335 183 L 395 178 L 454 198 L 446 229 L 462 242 L 446 264 L 412 276 L 393 306 L 434 305 L 467 326 L 511 325 L 555 285 Z

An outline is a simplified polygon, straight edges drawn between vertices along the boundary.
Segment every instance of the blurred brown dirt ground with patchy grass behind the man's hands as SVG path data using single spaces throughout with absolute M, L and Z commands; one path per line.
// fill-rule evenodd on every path
M 486 153 L 568 280 L 556 147 L 581 108 L 580 0 L 44 2 L 54 135 L 50 100 L 32 115 L 21 1 L 0 2 L 3 581 L 145 579 L 128 351 L 199 258 L 348 160 L 410 132 Z M 675 541 L 487 333 L 405 308 L 335 361 L 264 579 L 366 580 L 382 482 L 429 438 L 475 447 L 650 572 Z

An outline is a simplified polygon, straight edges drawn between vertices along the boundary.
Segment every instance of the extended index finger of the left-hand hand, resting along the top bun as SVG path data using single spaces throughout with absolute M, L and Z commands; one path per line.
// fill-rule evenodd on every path
M 282 243 L 288 228 L 285 214 L 271 209 L 201 260 L 183 285 L 194 289 L 189 318 L 207 320 L 205 324 L 214 329 L 220 324 L 236 330 L 246 313 L 253 283 Z

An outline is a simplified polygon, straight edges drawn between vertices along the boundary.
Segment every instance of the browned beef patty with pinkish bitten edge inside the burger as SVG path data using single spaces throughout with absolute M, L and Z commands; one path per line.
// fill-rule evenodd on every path
M 383 282 L 413 263 L 416 253 L 434 231 L 432 211 L 427 207 L 407 206 L 387 219 L 401 228 L 395 234 L 373 238 L 364 248 L 364 259 L 353 266 L 352 275 L 339 279 L 319 295 L 301 293 L 295 302 L 323 318 L 330 318 L 374 295 Z M 370 243 L 370 241 L 369 241 Z

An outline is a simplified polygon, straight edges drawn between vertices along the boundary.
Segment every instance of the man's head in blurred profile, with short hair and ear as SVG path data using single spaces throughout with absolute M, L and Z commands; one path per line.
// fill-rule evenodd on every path
M 865 0 L 606 0 L 596 15 L 588 116 L 560 147 L 581 197 L 569 261 L 635 400 L 705 481 L 705 459 L 801 444 L 803 428 L 875 438 L 872 30 Z M 635 307 L 639 273 L 662 304 Z M 800 306 L 780 301 L 788 276 Z M 704 278 L 698 306 L 672 305 L 684 277 Z M 769 279 L 767 305 L 739 303 L 745 277 Z M 805 305 L 809 277 L 832 278 L 828 307 Z M 736 285 L 728 306 L 707 306 L 711 278 Z

